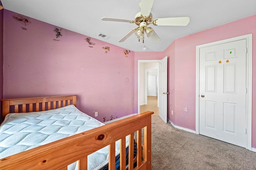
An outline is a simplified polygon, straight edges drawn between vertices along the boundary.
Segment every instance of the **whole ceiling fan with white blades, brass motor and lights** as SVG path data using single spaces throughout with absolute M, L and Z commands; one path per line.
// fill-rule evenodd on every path
M 138 37 L 138 40 L 142 40 L 144 43 L 144 33 L 146 33 L 147 37 L 149 37 L 152 42 L 157 43 L 160 41 L 160 38 L 154 32 L 151 27 L 148 27 L 149 24 L 154 24 L 155 26 L 186 26 L 190 22 L 190 18 L 187 17 L 171 17 L 171 18 L 152 18 L 152 14 L 150 13 L 154 0 L 141 0 L 140 8 L 141 11 L 135 15 L 134 20 L 126 20 L 120 18 L 101 18 L 103 21 L 118 21 L 118 22 L 129 22 L 135 23 L 138 25 L 138 28 L 132 29 L 128 32 L 123 38 L 121 38 L 118 42 L 124 42 L 128 37 L 130 37 L 133 33 Z

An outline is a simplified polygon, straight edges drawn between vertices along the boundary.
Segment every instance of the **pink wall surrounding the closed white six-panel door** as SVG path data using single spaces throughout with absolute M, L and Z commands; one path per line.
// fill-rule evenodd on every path
M 196 34 L 176 39 L 165 51 L 168 55 L 171 50 L 175 50 L 175 55 L 171 57 L 169 67 L 174 67 L 175 77 L 169 81 L 174 81 L 175 99 L 170 105 L 175 105 L 174 123 L 177 126 L 195 130 L 195 95 L 196 95 L 196 45 L 216 42 L 228 38 L 253 34 L 253 42 L 256 41 L 256 15 L 241 20 L 230 22 L 222 26 L 211 28 Z M 253 43 L 253 51 L 256 51 L 256 43 Z M 256 148 L 256 53 L 253 53 L 252 70 L 252 147 Z M 173 82 L 172 82 L 173 83 Z M 183 108 L 188 108 L 188 113 Z M 169 114 L 170 115 L 170 114 Z M 169 119 L 173 121 L 172 117 Z

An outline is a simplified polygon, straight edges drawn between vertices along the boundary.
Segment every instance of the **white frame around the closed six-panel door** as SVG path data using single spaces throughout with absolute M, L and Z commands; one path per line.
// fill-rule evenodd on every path
M 199 73 L 200 73 L 200 48 L 221 43 L 228 43 L 246 39 L 246 149 L 252 150 L 252 34 L 206 43 L 196 46 L 196 134 L 199 134 Z M 246 131 L 246 129 L 245 129 Z

